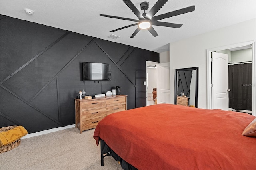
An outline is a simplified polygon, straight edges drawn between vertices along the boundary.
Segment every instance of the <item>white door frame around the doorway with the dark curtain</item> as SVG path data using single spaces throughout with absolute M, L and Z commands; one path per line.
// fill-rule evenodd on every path
M 207 49 L 207 109 L 212 109 L 212 68 L 211 68 L 211 57 L 212 57 L 212 52 L 215 51 L 221 51 L 225 49 L 230 49 L 230 48 L 236 48 L 236 47 L 243 47 L 246 45 L 252 45 L 252 115 L 256 116 L 256 43 L 255 41 L 249 41 L 249 42 L 243 42 L 243 43 L 238 43 L 238 44 L 232 44 L 232 45 L 227 45 L 223 47 L 216 47 L 212 49 Z

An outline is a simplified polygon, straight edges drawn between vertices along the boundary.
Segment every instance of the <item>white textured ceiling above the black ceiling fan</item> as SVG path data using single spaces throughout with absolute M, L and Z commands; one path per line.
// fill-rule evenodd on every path
M 132 0 L 138 10 L 142 1 Z M 150 10 L 156 0 L 148 2 Z M 192 5 L 196 7 L 194 12 L 160 20 L 183 24 L 181 28 L 153 26 L 157 37 L 140 30 L 130 38 L 137 26 L 109 32 L 135 22 L 99 14 L 138 19 L 122 0 L 1 0 L 0 14 L 156 52 L 168 51 L 171 42 L 256 18 L 255 0 L 169 0 L 156 15 Z M 25 8 L 34 14 L 26 14 Z M 111 34 L 120 38 L 108 38 Z

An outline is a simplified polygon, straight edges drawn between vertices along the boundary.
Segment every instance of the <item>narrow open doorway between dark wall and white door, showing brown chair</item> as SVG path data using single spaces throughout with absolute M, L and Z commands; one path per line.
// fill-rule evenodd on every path
M 155 104 L 157 87 L 157 62 L 146 61 L 147 106 Z M 155 92 L 153 92 L 155 91 Z M 154 93 L 154 94 L 153 94 Z

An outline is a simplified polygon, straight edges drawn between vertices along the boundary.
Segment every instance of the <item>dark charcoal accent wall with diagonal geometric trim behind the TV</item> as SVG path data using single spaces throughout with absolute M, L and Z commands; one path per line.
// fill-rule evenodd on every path
M 136 89 L 145 85 L 136 84 L 135 71 L 146 77 L 146 61 L 159 62 L 159 53 L 8 16 L 0 19 L 0 127 L 22 125 L 34 133 L 74 124 L 74 98 L 84 84 L 92 96 L 120 86 L 121 94 L 128 95 L 127 109 L 145 105 L 146 97 L 136 100 Z M 111 81 L 82 81 L 83 61 L 111 64 Z

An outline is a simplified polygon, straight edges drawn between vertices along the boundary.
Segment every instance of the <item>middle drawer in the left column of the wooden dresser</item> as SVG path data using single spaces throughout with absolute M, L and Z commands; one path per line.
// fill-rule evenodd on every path
M 90 109 L 82 112 L 82 121 L 106 116 L 106 108 Z

